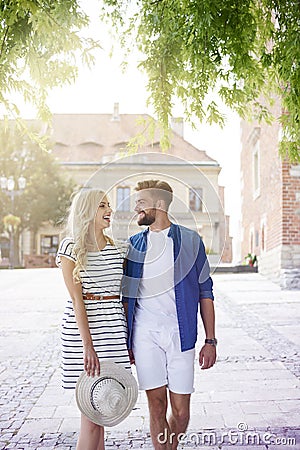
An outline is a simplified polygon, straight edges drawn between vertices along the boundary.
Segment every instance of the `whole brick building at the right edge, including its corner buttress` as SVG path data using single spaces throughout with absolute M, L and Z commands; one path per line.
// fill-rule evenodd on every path
M 274 110 L 280 114 L 280 106 Z M 300 165 L 278 154 L 280 125 L 242 122 L 242 254 L 284 288 L 300 288 Z

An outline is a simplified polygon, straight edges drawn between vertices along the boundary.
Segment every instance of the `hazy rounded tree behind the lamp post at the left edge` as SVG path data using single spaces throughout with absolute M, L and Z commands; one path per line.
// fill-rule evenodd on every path
M 18 189 L 17 180 L 21 175 L 27 182 L 24 192 L 15 196 L 14 205 L 0 191 L 0 227 L 7 214 L 20 217 L 19 232 L 28 229 L 36 233 L 48 222 L 60 224 L 70 204 L 74 183 L 63 176 L 50 150 L 41 151 L 28 136 L 22 136 L 14 124 L 9 125 L 6 127 L 2 123 L 0 126 L 0 176 L 13 177 L 15 189 Z

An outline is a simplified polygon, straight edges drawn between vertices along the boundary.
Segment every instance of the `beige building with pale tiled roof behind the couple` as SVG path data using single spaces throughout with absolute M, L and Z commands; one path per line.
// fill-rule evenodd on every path
M 147 115 L 119 114 L 115 104 L 113 114 L 55 114 L 49 132 L 66 174 L 80 186 L 107 192 L 115 211 L 113 238 L 126 240 L 140 231 L 133 211 L 137 181 L 164 179 L 174 190 L 172 220 L 202 236 L 212 265 L 231 262 L 219 164 L 183 139 L 180 119 L 174 121 L 170 149 L 162 153 L 154 125 Z M 128 153 L 127 145 L 135 136 L 138 150 Z M 37 237 L 39 253 L 53 254 L 62 236 L 62 230 L 45 226 Z

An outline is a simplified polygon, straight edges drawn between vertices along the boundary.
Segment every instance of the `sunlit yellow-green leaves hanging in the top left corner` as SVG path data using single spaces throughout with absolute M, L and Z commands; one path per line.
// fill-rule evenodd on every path
M 36 107 L 40 119 L 48 120 L 48 90 L 75 79 L 79 55 L 85 63 L 93 62 L 91 50 L 98 43 L 79 35 L 88 17 L 77 0 L 1 0 L 0 22 L 4 112 L 19 119 L 18 104 L 11 100 L 17 93 Z M 18 125 L 25 127 L 20 120 Z

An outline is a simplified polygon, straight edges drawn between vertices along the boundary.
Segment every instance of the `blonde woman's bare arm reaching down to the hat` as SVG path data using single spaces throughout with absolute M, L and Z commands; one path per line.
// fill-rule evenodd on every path
M 61 268 L 65 285 L 73 302 L 76 322 L 83 343 L 84 369 L 89 376 L 99 375 L 100 363 L 93 346 L 89 322 L 82 298 L 82 285 L 81 283 L 75 283 L 73 278 L 74 265 L 75 263 L 73 261 L 61 256 Z

